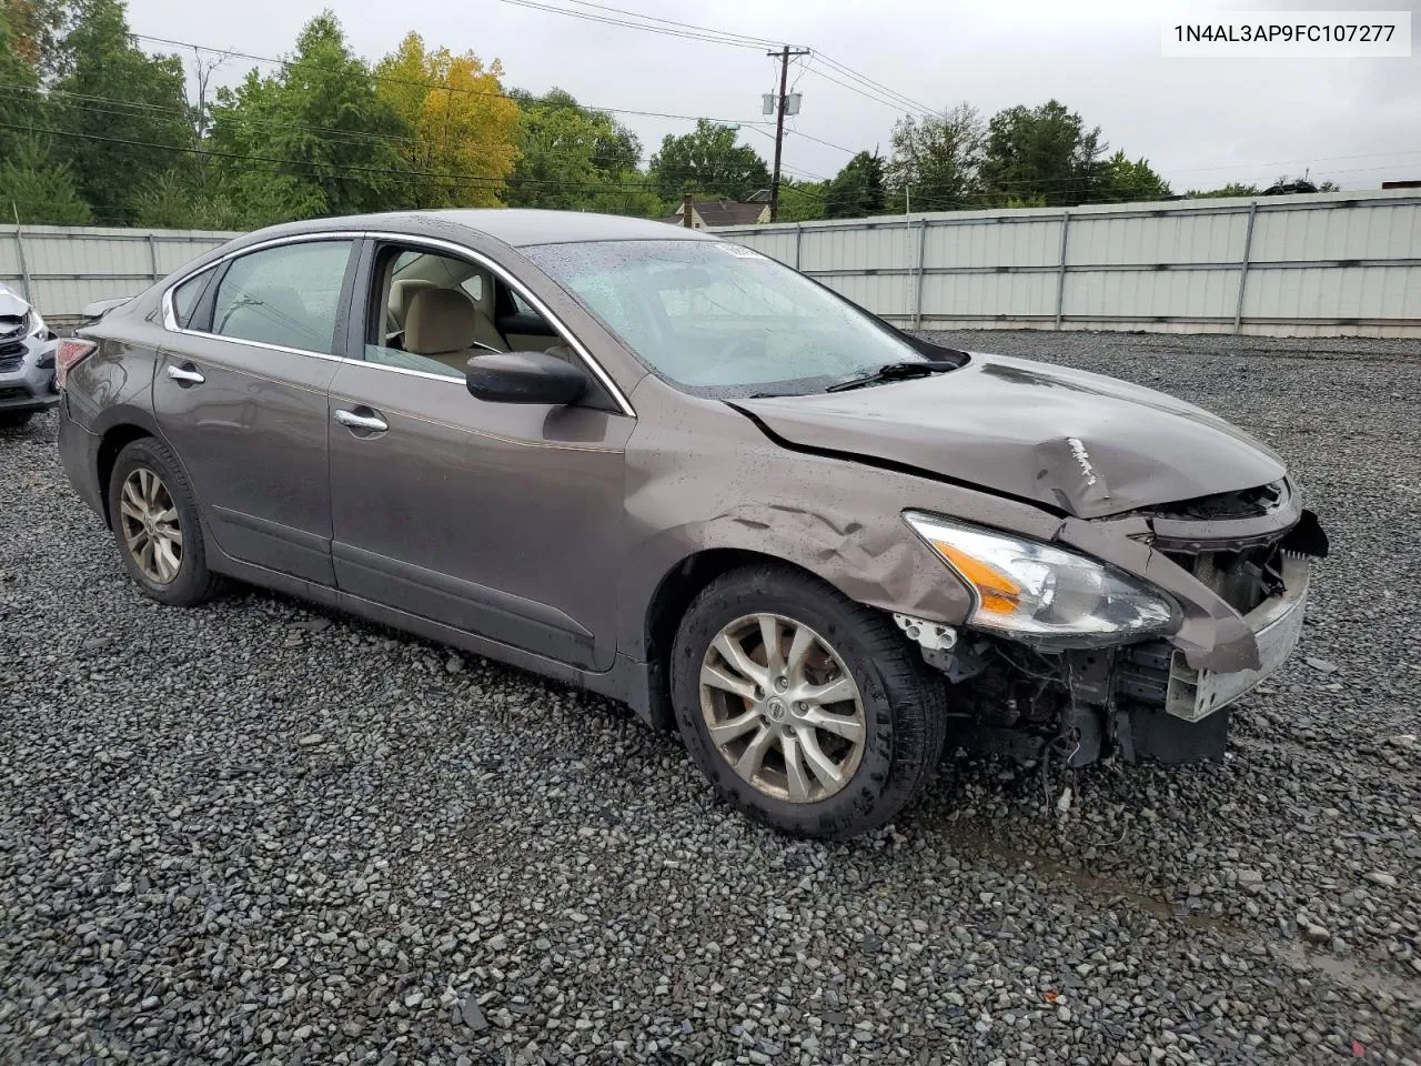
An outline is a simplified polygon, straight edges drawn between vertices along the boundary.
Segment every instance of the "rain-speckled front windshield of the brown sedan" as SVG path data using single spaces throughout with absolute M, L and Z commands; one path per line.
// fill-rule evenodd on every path
M 864 311 L 739 244 L 625 240 L 523 253 L 651 371 L 698 395 L 820 392 L 887 364 L 929 362 Z

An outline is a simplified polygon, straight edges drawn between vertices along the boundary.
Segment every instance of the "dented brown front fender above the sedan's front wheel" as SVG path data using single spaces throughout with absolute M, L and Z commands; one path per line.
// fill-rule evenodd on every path
M 631 536 L 618 610 L 625 655 L 647 655 L 657 588 L 702 551 L 780 559 L 870 607 L 961 625 L 972 593 L 911 533 L 902 512 L 971 515 L 1036 537 L 1056 526 L 1037 507 L 985 492 L 783 449 L 719 401 L 674 394 L 672 418 L 668 392 L 647 378 L 632 397 L 641 418 L 625 455 Z M 688 452 L 698 458 L 693 479 Z

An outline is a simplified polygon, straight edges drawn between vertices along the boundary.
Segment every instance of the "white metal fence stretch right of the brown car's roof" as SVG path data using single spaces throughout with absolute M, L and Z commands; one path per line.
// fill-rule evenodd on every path
M 1421 337 L 1405 189 L 716 233 L 914 327 Z

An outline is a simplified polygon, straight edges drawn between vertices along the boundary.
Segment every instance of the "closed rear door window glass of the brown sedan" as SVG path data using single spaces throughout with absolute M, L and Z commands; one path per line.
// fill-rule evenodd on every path
M 348 240 L 317 240 L 232 260 L 217 283 L 212 333 L 333 354 L 350 253 Z

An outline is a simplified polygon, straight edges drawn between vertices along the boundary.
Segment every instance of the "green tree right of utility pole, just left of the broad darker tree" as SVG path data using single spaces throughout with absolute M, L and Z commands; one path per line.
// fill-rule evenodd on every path
M 982 117 L 969 104 L 942 115 L 901 118 L 892 129 L 890 208 L 952 210 L 969 206 L 982 163 Z

